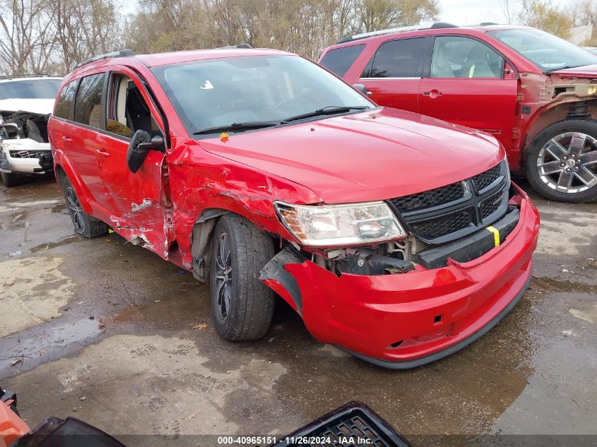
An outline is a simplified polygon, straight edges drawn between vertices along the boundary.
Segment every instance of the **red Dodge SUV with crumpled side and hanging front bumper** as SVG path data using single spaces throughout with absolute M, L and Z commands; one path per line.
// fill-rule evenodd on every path
M 490 330 L 531 277 L 538 213 L 495 138 L 295 54 L 98 56 L 48 129 L 75 232 L 208 281 L 226 340 L 263 336 L 276 292 L 322 342 L 409 368 Z

